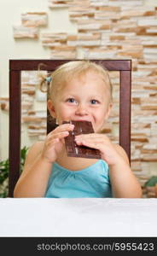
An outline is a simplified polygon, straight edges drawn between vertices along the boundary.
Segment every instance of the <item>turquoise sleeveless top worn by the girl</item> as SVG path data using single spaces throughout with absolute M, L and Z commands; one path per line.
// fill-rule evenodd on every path
M 79 171 L 69 171 L 56 162 L 52 166 L 45 197 L 112 197 L 108 164 L 97 160 Z

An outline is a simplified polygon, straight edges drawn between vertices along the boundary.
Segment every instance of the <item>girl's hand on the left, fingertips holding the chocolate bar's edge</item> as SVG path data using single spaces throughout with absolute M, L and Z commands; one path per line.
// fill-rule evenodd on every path
M 64 137 L 69 135 L 69 131 L 73 131 L 74 125 L 64 124 L 59 125 L 55 130 L 50 131 L 44 141 L 44 148 L 41 152 L 41 157 L 49 163 L 57 159 L 58 154 L 61 153 L 65 143 Z

